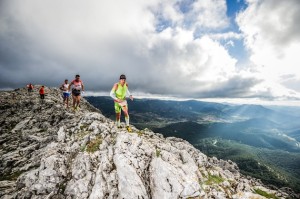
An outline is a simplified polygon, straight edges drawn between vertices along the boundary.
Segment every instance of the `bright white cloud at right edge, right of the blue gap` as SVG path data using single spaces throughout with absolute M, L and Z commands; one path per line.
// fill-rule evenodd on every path
M 273 96 L 299 97 L 300 2 L 298 0 L 248 0 L 237 16 L 249 59 L 258 75 L 265 78 L 259 88 Z M 294 75 L 292 81 L 286 81 Z M 276 93 L 276 94 L 275 94 Z

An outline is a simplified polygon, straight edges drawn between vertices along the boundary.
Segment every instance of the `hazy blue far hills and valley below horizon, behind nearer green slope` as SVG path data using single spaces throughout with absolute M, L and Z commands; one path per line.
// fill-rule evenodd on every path
M 110 97 L 86 99 L 104 115 L 114 119 L 113 101 Z M 261 105 L 225 105 L 194 100 L 136 99 L 133 102 L 128 101 L 128 104 L 131 122 L 140 128 L 151 128 L 166 135 L 196 133 L 200 139 L 220 136 L 237 141 L 243 141 L 243 136 L 255 134 L 264 138 L 255 144 L 257 146 L 284 147 L 283 150 L 300 151 L 297 146 L 300 114 L 289 115 L 288 111 L 283 112 L 282 109 L 280 112 Z M 270 140 L 264 145 L 265 137 Z M 252 142 L 248 139 L 243 142 L 249 144 L 248 141 Z

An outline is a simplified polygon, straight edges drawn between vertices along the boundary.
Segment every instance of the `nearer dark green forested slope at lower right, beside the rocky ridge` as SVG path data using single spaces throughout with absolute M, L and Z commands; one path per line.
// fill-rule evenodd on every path
M 245 175 L 255 176 L 267 184 L 290 186 L 300 191 L 300 154 L 283 150 L 256 148 L 233 140 L 205 138 L 194 144 L 209 156 L 236 162 Z

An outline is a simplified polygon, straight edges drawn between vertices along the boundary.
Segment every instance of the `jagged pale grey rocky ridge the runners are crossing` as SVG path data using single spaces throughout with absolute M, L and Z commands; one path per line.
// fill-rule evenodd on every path
M 57 88 L 1 91 L 1 198 L 288 198 L 185 140 L 128 133 L 86 100 L 67 109 Z M 113 108 L 113 102 L 112 107 Z

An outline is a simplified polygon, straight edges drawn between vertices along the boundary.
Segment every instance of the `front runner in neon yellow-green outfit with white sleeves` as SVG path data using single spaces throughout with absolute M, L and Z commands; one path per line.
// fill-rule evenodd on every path
M 121 128 L 121 110 L 125 115 L 126 129 L 128 132 L 131 132 L 131 128 L 129 126 L 129 114 L 128 114 L 128 104 L 126 101 L 126 96 L 129 96 L 131 101 L 133 100 L 132 95 L 128 90 L 128 84 L 126 83 L 126 76 L 121 75 L 118 83 L 115 83 L 113 88 L 110 91 L 110 96 L 114 99 L 114 106 L 116 112 L 116 123 L 117 127 Z

